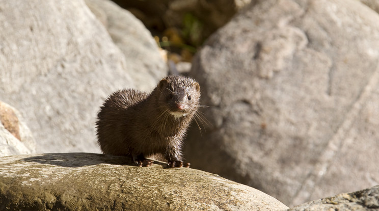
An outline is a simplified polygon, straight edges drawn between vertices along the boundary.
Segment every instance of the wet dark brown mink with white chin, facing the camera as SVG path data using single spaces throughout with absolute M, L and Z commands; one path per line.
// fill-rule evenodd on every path
M 178 75 L 161 80 L 150 94 L 119 90 L 105 100 L 98 113 L 100 148 L 106 154 L 131 156 L 137 164 L 146 157 L 162 154 L 169 164 L 179 162 L 181 166 L 182 141 L 199 100 L 199 84 Z M 183 103 L 185 108 L 178 109 L 177 103 Z

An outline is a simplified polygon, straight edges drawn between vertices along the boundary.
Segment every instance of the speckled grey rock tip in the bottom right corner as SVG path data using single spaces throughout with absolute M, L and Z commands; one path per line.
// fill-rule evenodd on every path
M 379 210 L 379 186 L 353 193 L 338 194 L 288 209 L 287 211 Z

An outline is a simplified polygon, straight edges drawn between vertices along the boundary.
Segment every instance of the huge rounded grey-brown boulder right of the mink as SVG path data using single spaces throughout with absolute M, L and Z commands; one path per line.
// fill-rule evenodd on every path
M 193 62 L 194 168 L 287 205 L 378 184 L 379 16 L 359 1 L 257 1 Z M 354 182 L 352 182 L 354 181 Z

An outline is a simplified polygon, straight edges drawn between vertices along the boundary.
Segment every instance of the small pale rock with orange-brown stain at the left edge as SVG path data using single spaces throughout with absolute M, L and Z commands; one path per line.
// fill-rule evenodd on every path
M 0 101 L 0 156 L 36 152 L 36 142 L 21 114 Z

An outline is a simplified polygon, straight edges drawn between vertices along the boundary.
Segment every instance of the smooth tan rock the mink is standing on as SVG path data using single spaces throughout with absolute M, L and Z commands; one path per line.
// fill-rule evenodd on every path
M 56 153 L 2 157 L 0 210 L 284 210 L 278 200 L 188 168 L 136 167 L 126 157 Z

